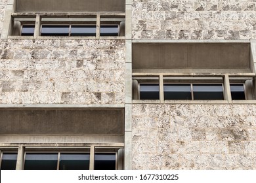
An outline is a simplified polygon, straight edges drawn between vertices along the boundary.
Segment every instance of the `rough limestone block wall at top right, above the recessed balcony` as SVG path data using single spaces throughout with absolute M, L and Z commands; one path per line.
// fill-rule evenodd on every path
M 133 0 L 133 39 L 256 39 L 255 0 Z

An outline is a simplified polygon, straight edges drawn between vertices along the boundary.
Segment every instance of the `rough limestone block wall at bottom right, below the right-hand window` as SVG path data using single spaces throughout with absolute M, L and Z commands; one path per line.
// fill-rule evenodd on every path
M 255 105 L 133 105 L 133 169 L 256 169 Z

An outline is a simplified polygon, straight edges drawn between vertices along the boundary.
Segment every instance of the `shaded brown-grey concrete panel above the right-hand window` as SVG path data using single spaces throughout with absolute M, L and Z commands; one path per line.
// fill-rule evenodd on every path
M 249 69 L 249 43 L 133 43 L 133 69 Z

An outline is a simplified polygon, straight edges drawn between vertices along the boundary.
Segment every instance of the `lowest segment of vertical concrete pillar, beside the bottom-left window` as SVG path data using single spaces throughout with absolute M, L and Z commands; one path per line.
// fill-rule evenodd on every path
M 125 170 L 132 169 L 132 133 L 125 131 Z

